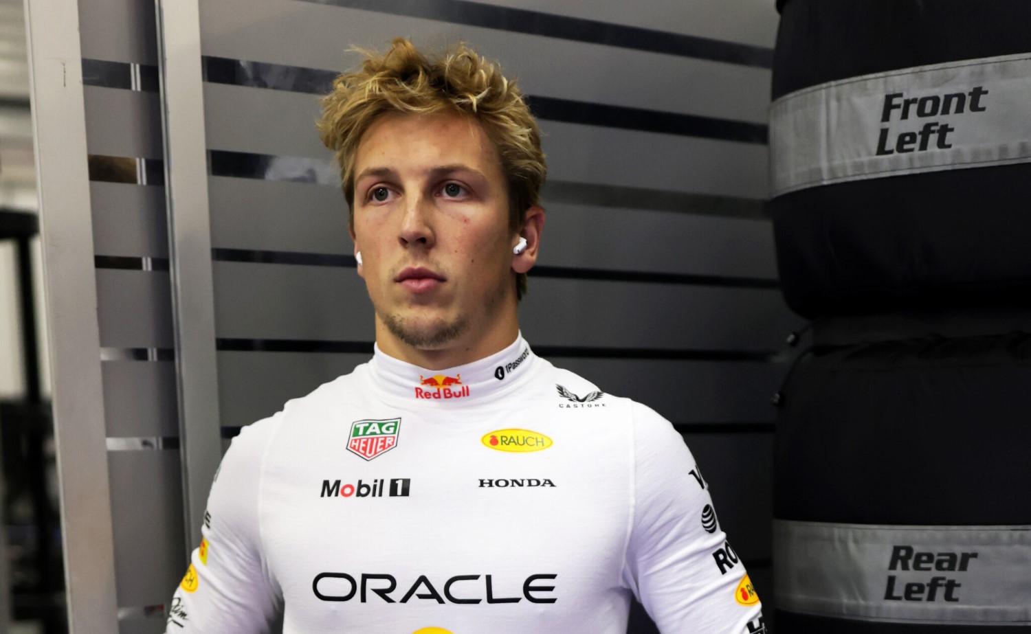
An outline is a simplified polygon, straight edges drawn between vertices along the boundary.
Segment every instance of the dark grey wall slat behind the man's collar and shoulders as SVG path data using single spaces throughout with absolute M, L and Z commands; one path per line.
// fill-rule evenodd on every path
M 292 398 L 351 372 L 367 355 L 219 353 L 222 424 L 248 425 L 282 409 Z M 743 361 L 551 359 L 605 392 L 631 397 L 670 421 L 770 421 L 770 397 L 786 364 Z

